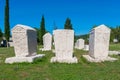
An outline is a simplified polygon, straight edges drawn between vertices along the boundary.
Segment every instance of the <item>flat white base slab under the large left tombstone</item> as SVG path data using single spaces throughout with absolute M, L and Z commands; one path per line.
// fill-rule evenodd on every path
M 43 56 L 45 56 L 45 54 L 38 54 L 38 55 L 28 56 L 28 57 L 10 57 L 10 58 L 6 58 L 5 63 L 9 63 L 9 64 L 22 63 L 22 62 L 31 63 L 34 61 L 34 59 L 42 58 Z

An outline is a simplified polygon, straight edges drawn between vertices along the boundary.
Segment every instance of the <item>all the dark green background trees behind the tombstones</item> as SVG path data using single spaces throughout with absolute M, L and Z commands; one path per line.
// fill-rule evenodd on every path
M 9 23 L 9 0 L 6 0 L 5 4 L 5 19 L 4 19 L 4 34 L 2 33 L 0 29 L 0 42 L 3 38 L 3 36 L 6 38 L 7 41 L 9 41 L 10 38 L 10 23 Z M 96 25 L 93 26 L 93 28 L 96 27 Z M 110 42 L 113 42 L 114 39 L 116 39 L 118 42 L 120 42 L 120 26 L 117 26 L 115 28 L 111 28 L 111 36 L 110 36 Z M 48 32 L 45 29 L 45 19 L 44 15 L 42 16 L 41 22 L 40 22 L 40 28 L 35 28 L 37 31 L 37 41 L 40 45 L 43 44 L 43 35 Z M 57 26 L 54 26 L 54 29 L 57 29 Z M 64 29 L 73 29 L 71 24 L 71 19 L 66 18 Z M 75 41 L 79 38 L 83 38 L 85 40 L 85 43 L 88 44 L 89 42 L 89 34 L 85 35 L 78 35 L 75 36 Z

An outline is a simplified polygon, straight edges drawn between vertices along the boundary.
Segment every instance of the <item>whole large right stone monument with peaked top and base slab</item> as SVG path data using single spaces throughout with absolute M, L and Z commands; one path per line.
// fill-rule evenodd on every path
M 105 25 L 93 28 L 90 32 L 89 55 L 83 55 L 90 62 L 116 60 L 108 56 L 110 29 Z

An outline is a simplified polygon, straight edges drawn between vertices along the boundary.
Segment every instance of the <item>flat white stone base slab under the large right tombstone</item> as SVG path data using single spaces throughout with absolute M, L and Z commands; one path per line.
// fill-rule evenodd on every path
M 89 62 L 104 62 L 104 61 L 115 61 L 117 60 L 116 58 L 112 58 L 112 57 L 106 57 L 106 58 L 103 58 L 103 59 L 95 59 L 95 58 L 92 58 L 90 57 L 89 55 L 83 55 L 83 57 L 85 59 L 87 59 L 87 61 Z

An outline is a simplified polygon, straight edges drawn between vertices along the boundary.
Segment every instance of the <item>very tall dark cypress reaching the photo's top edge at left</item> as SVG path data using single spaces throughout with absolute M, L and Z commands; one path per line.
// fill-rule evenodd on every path
M 5 22 L 4 22 L 4 32 L 5 32 L 5 38 L 7 42 L 9 41 L 10 37 L 10 24 L 9 24 L 9 0 L 6 0 L 6 5 L 5 5 Z

